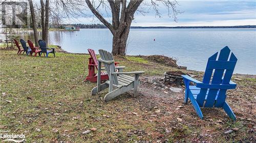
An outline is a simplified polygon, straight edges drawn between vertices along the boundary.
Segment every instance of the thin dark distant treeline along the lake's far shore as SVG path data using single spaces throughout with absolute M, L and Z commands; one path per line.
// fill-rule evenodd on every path
M 80 28 L 107 28 L 103 24 L 61 24 L 61 27 L 73 25 Z M 131 28 L 256 28 L 256 25 L 241 25 L 241 26 L 131 26 Z

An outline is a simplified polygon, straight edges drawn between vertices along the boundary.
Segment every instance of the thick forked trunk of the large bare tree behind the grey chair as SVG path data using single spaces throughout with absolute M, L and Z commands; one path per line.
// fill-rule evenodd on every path
M 126 0 L 114 1 L 108 0 L 112 11 L 112 24 L 106 21 L 102 15 L 95 9 L 90 0 L 86 3 L 92 13 L 109 28 L 113 35 L 112 53 L 113 55 L 125 55 L 126 43 L 130 32 L 130 27 L 135 11 L 143 0 L 130 1 L 126 7 Z M 122 7 L 121 7 L 122 6 Z M 120 9 L 121 8 L 121 9 Z M 121 13 L 120 13 L 121 12 Z M 121 15 L 120 15 L 121 14 Z

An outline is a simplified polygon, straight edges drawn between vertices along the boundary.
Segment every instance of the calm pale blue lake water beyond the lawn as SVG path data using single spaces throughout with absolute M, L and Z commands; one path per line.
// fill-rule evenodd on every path
M 33 39 L 31 34 L 22 37 Z M 238 58 L 234 73 L 256 74 L 256 29 L 131 29 L 128 41 L 129 55 L 175 57 L 178 65 L 197 71 L 204 71 L 209 56 L 227 45 Z M 96 52 L 112 50 L 112 34 L 108 29 L 49 32 L 49 42 L 74 53 L 88 53 L 88 48 Z

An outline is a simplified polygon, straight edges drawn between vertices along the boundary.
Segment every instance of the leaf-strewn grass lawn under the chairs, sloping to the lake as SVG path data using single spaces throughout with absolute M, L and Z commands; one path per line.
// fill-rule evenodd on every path
M 146 94 L 131 98 L 125 93 L 104 102 L 107 90 L 91 96 L 96 83 L 83 82 L 88 58 L 86 54 L 61 52 L 56 58 L 52 54 L 39 58 L 1 50 L 0 130 L 23 133 L 26 142 L 255 141 L 255 77 L 239 77 L 241 80 L 235 80 L 238 88 L 229 92 L 236 122 L 221 109 L 209 111 L 208 118 L 200 120 L 191 104 L 182 103 L 183 93 L 175 100 Z M 178 70 L 142 58 L 116 61 L 126 66 L 124 71 L 145 71 L 141 78 Z M 178 105 L 183 107 L 176 109 Z M 216 113 L 220 115 L 215 117 Z M 224 133 L 233 128 L 238 131 Z

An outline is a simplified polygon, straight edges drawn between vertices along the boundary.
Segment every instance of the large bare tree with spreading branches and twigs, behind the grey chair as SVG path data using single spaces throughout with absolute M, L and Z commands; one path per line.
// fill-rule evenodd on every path
M 98 6 L 95 6 L 94 0 L 92 0 L 92 2 L 90 0 L 86 0 L 86 3 L 92 13 L 111 31 L 113 35 L 112 53 L 114 55 L 125 55 L 127 38 L 129 36 L 130 26 L 134 19 L 134 14 L 136 11 L 142 14 L 146 13 L 146 11 L 140 7 L 142 4 L 150 9 L 152 8 L 156 12 L 156 15 L 160 17 L 159 4 L 157 4 L 157 1 L 151 0 L 150 3 L 142 2 L 143 0 L 131 0 L 130 2 L 127 2 L 126 0 L 108 0 L 108 7 L 104 4 L 104 0 L 101 0 Z M 168 16 L 173 17 L 176 21 L 177 14 L 180 13 L 176 9 L 177 2 L 170 2 L 169 0 L 158 0 L 158 2 L 167 8 Z M 111 9 L 112 24 L 108 22 L 98 11 L 100 5 Z

